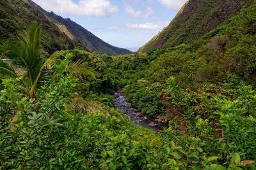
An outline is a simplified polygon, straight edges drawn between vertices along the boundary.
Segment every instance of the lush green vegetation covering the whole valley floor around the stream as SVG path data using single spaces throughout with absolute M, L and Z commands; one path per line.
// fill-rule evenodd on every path
M 255 169 L 255 31 L 254 2 L 190 45 L 109 57 L 49 55 L 33 24 L 0 46 L 0 169 Z M 170 127 L 118 111 L 124 86 Z

